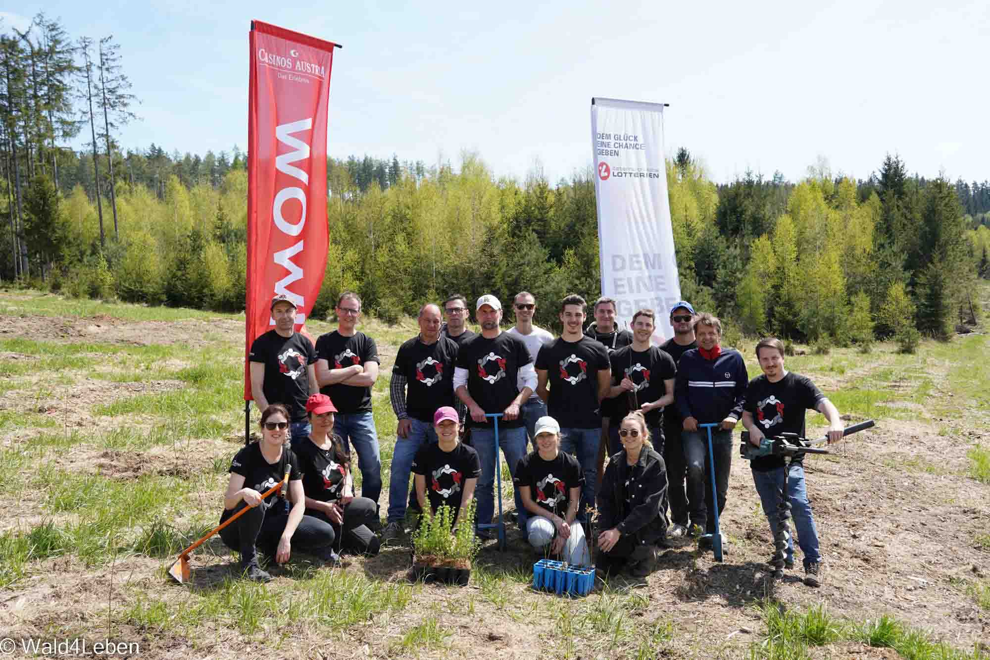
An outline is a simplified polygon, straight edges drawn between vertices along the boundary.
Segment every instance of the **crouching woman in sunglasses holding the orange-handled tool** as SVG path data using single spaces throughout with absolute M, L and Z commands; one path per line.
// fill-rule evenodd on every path
M 289 561 L 292 543 L 303 552 L 330 559 L 333 528 L 323 520 L 305 514 L 303 484 L 295 455 L 285 438 L 289 413 L 273 403 L 261 413 L 261 439 L 247 445 L 231 461 L 231 478 L 224 494 L 221 522 L 238 510 L 250 510 L 220 531 L 220 537 L 233 550 L 241 552 L 242 573 L 249 580 L 267 582 L 271 576 L 257 563 L 257 549 L 279 564 Z M 261 499 L 261 494 L 289 475 L 286 489 Z M 292 502 L 291 504 L 289 502 Z

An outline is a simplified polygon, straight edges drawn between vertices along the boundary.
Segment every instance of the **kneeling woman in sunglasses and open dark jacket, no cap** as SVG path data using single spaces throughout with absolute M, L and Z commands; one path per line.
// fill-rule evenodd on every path
M 654 545 L 664 540 L 667 521 L 661 508 L 667 491 L 667 471 L 649 444 L 646 420 L 639 410 L 626 415 L 619 427 L 623 449 L 605 469 L 598 493 L 599 524 L 596 568 L 612 575 L 626 568 L 632 575 L 649 575 Z

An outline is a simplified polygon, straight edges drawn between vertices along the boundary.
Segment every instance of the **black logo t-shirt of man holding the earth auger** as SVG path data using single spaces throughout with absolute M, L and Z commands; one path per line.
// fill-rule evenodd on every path
M 815 410 L 825 394 L 806 376 L 787 372 L 784 378 L 770 383 L 765 375 L 749 381 L 745 390 L 744 409 L 752 414 L 756 428 L 768 438 L 781 433 L 797 433 L 804 437 L 805 410 Z M 801 463 L 804 454 L 791 462 Z M 749 462 L 756 472 L 769 472 L 782 467 L 783 456 L 764 456 Z

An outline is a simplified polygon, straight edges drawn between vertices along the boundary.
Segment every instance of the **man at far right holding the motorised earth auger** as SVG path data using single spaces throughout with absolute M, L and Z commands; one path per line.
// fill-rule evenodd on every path
M 774 337 L 760 340 L 756 344 L 756 359 L 763 375 L 749 382 L 743 406 L 743 426 L 749 431 L 749 442 L 758 447 L 763 437 L 775 437 L 781 433 L 797 433 L 805 437 L 805 410 L 818 410 L 829 420 L 829 444 L 841 440 L 839 410 L 807 377 L 784 370 L 783 342 Z M 749 467 L 763 512 L 774 532 L 777 527 L 777 494 L 783 491 L 786 480 L 794 530 L 804 553 L 805 584 L 819 587 L 822 554 L 805 487 L 803 461 L 804 454 L 792 458 L 790 465 L 782 456 L 764 456 L 750 461 Z M 787 539 L 784 565 L 788 568 L 794 566 L 794 542 L 791 538 Z

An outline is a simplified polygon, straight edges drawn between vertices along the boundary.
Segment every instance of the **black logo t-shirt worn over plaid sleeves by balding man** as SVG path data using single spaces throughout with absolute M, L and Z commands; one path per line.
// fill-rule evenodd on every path
M 457 345 L 441 336 L 433 344 L 413 337 L 399 347 L 392 374 L 406 377 L 406 413 L 433 422 L 437 408 L 453 407 L 453 367 Z

